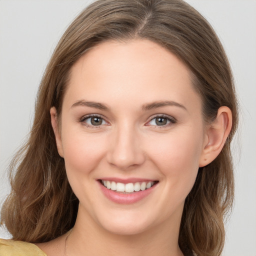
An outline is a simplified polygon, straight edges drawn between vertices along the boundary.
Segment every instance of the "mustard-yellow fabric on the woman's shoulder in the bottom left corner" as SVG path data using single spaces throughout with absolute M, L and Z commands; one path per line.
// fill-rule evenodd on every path
M 0 238 L 0 256 L 47 256 L 35 244 Z

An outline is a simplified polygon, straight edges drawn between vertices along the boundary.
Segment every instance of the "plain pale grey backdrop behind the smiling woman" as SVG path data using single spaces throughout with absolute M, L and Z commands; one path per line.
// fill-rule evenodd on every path
M 6 166 L 26 138 L 45 65 L 88 0 L 0 0 L 0 203 Z M 187 0 L 216 30 L 233 70 L 240 124 L 233 141 L 235 204 L 224 256 L 256 256 L 256 1 Z M 0 229 L 0 237 L 9 237 Z

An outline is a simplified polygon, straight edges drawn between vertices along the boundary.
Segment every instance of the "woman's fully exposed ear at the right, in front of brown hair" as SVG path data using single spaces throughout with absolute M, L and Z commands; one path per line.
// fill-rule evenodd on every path
M 216 118 L 206 128 L 199 167 L 207 165 L 217 157 L 225 144 L 231 127 L 231 110 L 227 106 L 219 107 Z

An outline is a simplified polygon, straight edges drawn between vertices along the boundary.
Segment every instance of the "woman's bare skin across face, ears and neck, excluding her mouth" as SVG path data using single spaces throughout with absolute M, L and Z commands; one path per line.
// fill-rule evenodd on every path
M 151 104 L 166 101 L 172 104 Z M 178 231 L 184 200 L 198 167 L 220 152 L 231 128 L 230 110 L 221 107 L 206 125 L 189 69 L 158 44 L 132 40 L 103 42 L 84 54 L 71 68 L 61 116 L 54 107 L 50 114 L 80 202 L 66 254 L 183 255 Z M 102 124 L 93 126 L 85 119 L 90 114 L 102 117 Z M 170 118 L 166 125 L 153 119 L 161 115 Z M 101 177 L 158 183 L 138 202 L 118 204 L 99 189 Z M 64 255 L 65 238 L 37 245 L 48 256 Z

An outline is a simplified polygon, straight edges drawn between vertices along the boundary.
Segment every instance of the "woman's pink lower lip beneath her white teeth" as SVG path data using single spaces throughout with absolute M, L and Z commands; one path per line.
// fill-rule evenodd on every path
M 120 204 L 135 203 L 135 202 L 143 199 L 147 195 L 149 195 L 156 186 L 156 184 L 154 184 L 153 186 L 151 186 L 150 188 L 147 188 L 145 190 L 140 190 L 137 192 L 124 194 L 124 193 L 120 193 L 120 192 L 116 192 L 114 190 L 108 189 L 105 186 L 103 186 L 100 182 L 98 182 L 98 183 L 101 188 L 101 191 L 109 200 L 111 200 L 115 203 L 120 203 Z

